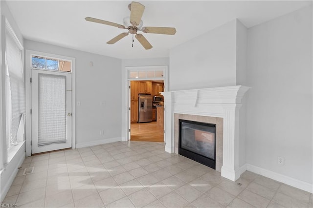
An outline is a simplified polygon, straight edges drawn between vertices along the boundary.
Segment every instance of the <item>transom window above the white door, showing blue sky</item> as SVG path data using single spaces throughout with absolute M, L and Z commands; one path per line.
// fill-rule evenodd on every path
M 32 56 L 32 68 L 54 70 L 54 71 L 71 71 L 71 62 L 65 60 Z

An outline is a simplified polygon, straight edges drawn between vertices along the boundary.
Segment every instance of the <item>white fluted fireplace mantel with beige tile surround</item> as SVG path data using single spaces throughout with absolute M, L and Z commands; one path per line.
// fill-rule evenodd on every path
M 240 107 L 242 98 L 249 88 L 237 85 L 162 92 L 165 109 L 165 151 L 178 153 L 178 119 L 187 118 L 186 120 L 213 124 L 216 122 L 215 124 L 220 124 L 219 126 L 223 121 L 223 133 L 219 133 L 217 129 L 217 133 L 223 139 L 218 142 L 217 135 L 216 170 L 221 171 L 223 177 L 236 181 L 241 175 L 239 168 Z M 221 149 L 222 144 L 223 149 Z

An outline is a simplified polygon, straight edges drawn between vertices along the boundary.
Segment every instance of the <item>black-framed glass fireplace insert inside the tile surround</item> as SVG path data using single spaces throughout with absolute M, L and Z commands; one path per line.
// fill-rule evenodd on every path
M 179 154 L 215 169 L 216 125 L 179 119 Z

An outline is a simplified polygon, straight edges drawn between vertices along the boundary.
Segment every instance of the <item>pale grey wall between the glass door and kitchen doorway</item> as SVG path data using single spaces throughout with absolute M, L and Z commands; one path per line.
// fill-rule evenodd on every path
M 120 59 L 29 40 L 24 47 L 76 59 L 76 147 L 121 140 Z

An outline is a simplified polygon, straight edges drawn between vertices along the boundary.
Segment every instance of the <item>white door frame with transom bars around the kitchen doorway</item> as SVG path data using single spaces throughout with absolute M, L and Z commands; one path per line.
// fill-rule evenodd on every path
M 163 71 L 163 78 L 130 78 L 130 72 L 131 71 L 140 71 L 140 72 L 147 72 L 147 71 Z M 131 85 L 131 81 L 156 81 L 156 80 L 163 80 L 164 81 L 164 92 L 168 91 L 168 66 L 167 65 L 160 65 L 160 66 L 125 66 L 125 83 L 126 86 L 124 87 L 124 95 L 126 102 L 125 103 L 125 109 L 127 111 L 125 119 L 125 126 L 123 127 L 123 130 L 125 130 L 125 141 L 130 141 L 131 132 L 129 129 L 131 129 L 131 111 L 130 111 L 130 105 L 131 105 L 131 90 L 129 89 L 129 86 Z M 165 121 L 164 121 L 164 133 L 163 137 L 165 138 Z

